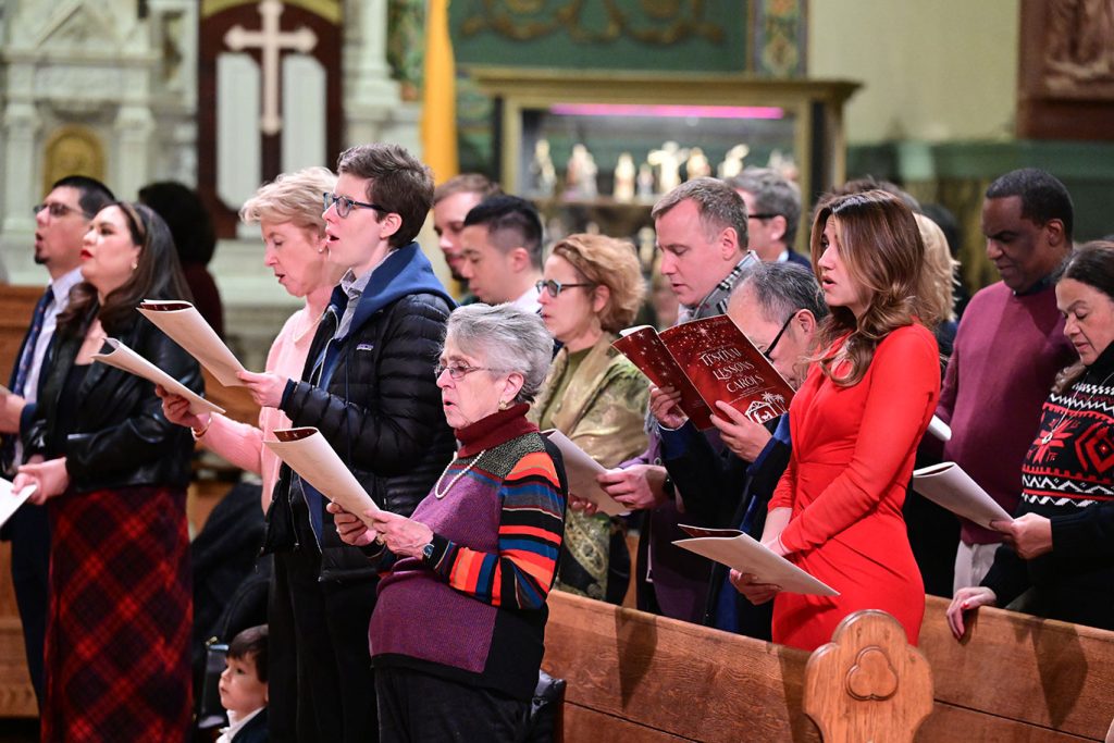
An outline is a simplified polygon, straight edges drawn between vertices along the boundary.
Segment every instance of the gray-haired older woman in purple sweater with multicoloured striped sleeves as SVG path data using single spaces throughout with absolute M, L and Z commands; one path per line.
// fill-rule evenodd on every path
M 369 528 L 329 506 L 385 573 L 369 628 L 382 743 L 522 737 L 565 531 L 560 454 L 526 419 L 551 355 L 535 314 L 455 311 L 437 379 L 456 459 L 411 518 L 369 511 Z

